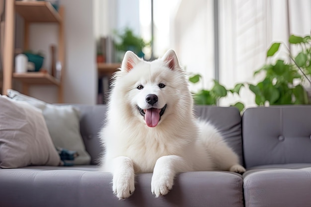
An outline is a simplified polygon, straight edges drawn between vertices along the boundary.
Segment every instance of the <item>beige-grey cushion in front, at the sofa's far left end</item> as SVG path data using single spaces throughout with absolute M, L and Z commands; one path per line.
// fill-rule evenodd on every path
M 42 112 L 0 96 L 0 167 L 59 165 Z

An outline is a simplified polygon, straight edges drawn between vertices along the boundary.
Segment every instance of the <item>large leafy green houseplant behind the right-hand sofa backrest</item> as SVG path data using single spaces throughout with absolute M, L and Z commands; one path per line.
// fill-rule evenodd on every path
M 254 72 L 254 76 L 264 72 L 263 80 L 256 85 L 248 84 L 249 89 L 255 94 L 255 103 L 259 106 L 310 104 L 303 85 L 306 81 L 310 82 L 308 75 L 311 75 L 311 37 L 291 35 L 289 43 L 299 48 L 296 57 L 289 53 L 291 61 L 279 59 L 271 63 L 271 57 L 274 57 L 282 44 L 273 43 L 267 51 L 266 64 Z

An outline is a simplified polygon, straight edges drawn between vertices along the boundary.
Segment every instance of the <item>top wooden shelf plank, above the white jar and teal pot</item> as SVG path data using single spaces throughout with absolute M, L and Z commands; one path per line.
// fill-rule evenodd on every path
M 28 22 L 61 22 L 62 18 L 48 1 L 15 1 L 15 10 Z

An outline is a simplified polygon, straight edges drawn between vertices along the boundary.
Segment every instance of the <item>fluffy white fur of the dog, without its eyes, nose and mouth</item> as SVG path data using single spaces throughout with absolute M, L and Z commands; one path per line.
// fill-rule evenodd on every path
M 172 189 L 176 173 L 245 171 L 217 130 L 194 117 L 188 81 L 173 50 L 153 62 L 128 51 L 114 79 L 101 132 L 105 147 L 101 170 L 112 172 L 113 192 L 119 199 L 134 192 L 135 173 L 153 172 L 151 191 L 158 197 Z M 151 107 L 148 94 L 158 97 L 154 108 L 167 105 L 152 127 L 138 109 Z

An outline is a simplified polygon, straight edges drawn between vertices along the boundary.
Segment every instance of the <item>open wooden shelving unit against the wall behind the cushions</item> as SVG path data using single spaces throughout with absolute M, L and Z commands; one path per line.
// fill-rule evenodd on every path
M 29 49 L 29 25 L 31 23 L 57 23 L 59 25 L 58 34 L 58 61 L 60 61 L 61 79 L 46 72 L 25 72 L 13 73 L 14 62 L 14 27 L 15 12 L 24 19 L 24 50 Z M 58 102 L 63 102 L 63 79 L 65 66 L 65 45 L 64 45 L 64 8 L 60 6 L 57 12 L 48 1 L 15 1 L 6 0 L 5 4 L 5 33 L 4 33 L 4 58 L 3 58 L 3 87 L 2 93 L 12 88 L 12 79 L 18 80 L 23 85 L 22 93 L 28 94 L 29 85 L 55 85 L 58 87 Z

